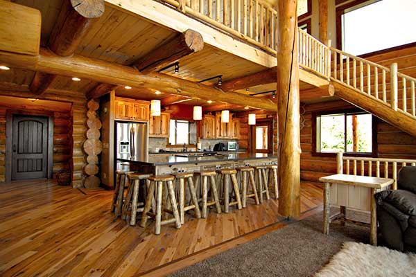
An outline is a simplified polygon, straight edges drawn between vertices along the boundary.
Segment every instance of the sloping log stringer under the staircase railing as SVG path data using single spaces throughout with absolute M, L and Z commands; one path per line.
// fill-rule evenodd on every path
M 374 114 L 374 116 L 385 120 L 387 123 L 401 129 L 403 132 L 416 136 L 416 120 L 410 118 L 410 116 L 401 114 L 401 112 L 393 110 L 390 106 L 385 105 L 385 103 L 380 100 L 370 98 L 370 96 L 359 93 L 354 89 L 349 89 L 345 85 L 339 84 L 338 82 L 331 82 L 330 86 L 333 87 L 333 90 L 331 89 L 333 95 L 338 96 L 339 98 L 342 98 L 345 101 L 352 103 L 352 105 L 360 107 L 371 114 Z

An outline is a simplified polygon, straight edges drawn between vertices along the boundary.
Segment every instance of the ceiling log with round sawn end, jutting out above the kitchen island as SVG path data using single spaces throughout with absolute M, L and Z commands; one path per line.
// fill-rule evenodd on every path
M 182 57 L 201 51 L 203 47 L 204 39 L 202 39 L 202 35 L 189 29 L 142 57 L 135 62 L 134 66 L 144 74 L 159 71 L 179 61 Z

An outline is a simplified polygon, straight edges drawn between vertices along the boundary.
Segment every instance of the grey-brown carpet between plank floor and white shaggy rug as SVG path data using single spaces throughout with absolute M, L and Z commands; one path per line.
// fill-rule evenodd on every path
M 347 223 L 343 227 L 338 221 L 324 235 L 322 213 L 318 213 L 171 276 L 312 276 L 343 242 L 368 243 L 369 235 L 365 226 Z

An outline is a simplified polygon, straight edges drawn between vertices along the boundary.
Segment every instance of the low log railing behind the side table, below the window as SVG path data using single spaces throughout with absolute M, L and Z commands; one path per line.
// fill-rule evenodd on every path
M 397 190 L 396 180 L 398 170 L 403 166 L 416 166 L 416 160 L 345 157 L 343 153 L 337 154 L 336 162 L 338 174 L 344 173 L 395 179 L 392 186 L 394 190 Z

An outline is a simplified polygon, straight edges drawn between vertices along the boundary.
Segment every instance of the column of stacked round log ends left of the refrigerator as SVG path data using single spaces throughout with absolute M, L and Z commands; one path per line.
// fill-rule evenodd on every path
M 89 100 L 87 111 L 87 140 L 84 143 L 84 151 L 87 153 L 87 165 L 84 167 L 85 175 L 88 177 L 84 181 L 85 188 L 98 188 L 100 179 L 95 175 L 98 173 L 98 154 L 101 153 L 100 129 L 101 121 L 97 117 L 98 102 Z

